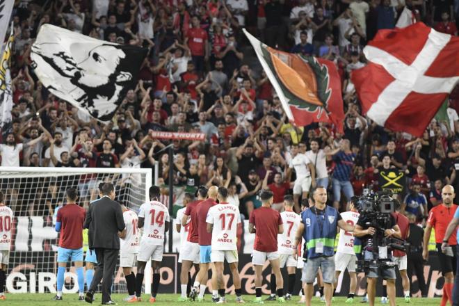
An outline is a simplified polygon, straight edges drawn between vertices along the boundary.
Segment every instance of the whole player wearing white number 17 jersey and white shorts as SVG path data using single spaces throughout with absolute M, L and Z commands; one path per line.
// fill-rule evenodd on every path
M 218 188 L 218 204 L 209 209 L 206 218 L 207 232 L 212 233 L 211 261 L 216 268 L 218 295 L 220 296 L 217 304 L 226 303 L 225 281 L 223 280 L 225 259 L 230 265 L 233 276 L 236 303 L 244 303 L 241 297 L 241 277 L 238 270 L 239 258 L 236 245 L 237 228 L 241 226 L 241 214 L 239 214 L 239 207 L 228 203 L 227 198 L 227 188 Z

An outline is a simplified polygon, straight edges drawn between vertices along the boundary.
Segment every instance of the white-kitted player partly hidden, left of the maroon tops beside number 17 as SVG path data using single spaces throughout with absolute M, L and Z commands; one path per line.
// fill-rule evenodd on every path
M 177 211 L 177 218 L 175 218 L 175 230 L 177 230 L 178 233 L 180 233 L 180 247 L 179 247 L 179 264 L 182 264 L 182 267 L 180 269 L 180 283 L 181 284 L 186 284 L 183 290 L 183 296 L 182 298 L 185 298 L 188 296 L 188 293 L 191 291 L 191 286 L 193 285 L 193 280 L 191 279 L 191 273 L 189 271 L 189 268 L 191 268 L 192 264 L 185 266 L 183 259 L 184 252 L 184 245 L 186 243 L 186 238 L 188 237 L 188 234 L 190 232 L 190 226 L 191 226 L 191 218 L 187 218 L 186 220 L 186 225 L 182 226 L 182 218 L 185 215 L 186 211 L 186 206 L 188 203 L 191 203 L 195 200 L 195 196 L 192 193 L 185 193 L 184 195 L 184 208 L 181 208 Z M 193 261 L 193 264 L 195 264 L 196 270 L 199 269 L 199 257 L 197 256 L 195 260 Z M 181 285 L 182 286 L 182 285 Z M 180 300 L 182 301 L 182 300 Z

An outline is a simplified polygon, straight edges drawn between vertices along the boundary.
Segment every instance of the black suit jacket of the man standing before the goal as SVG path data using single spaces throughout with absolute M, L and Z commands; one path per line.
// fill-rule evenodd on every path
M 90 249 L 120 249 L 118 232 L 124 230 L 126 225 L 118 202 L 106 196 L 92 202 L 83 226 L 89 229 L 88 244 Z

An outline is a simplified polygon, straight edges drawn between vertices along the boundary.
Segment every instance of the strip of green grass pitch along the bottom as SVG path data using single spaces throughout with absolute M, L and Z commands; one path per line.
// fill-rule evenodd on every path
M 70 305 L 88 305 L 86 302 L 81 302 L 78 300 L 78 295 L 77 294 L 64 294 L 63 295 L 63 300 L 52 300 L 54 297 L 54 294 L 50 293 L 29 293 L 29 294 L 22 294 L 22 293 L 7 293 L 6 294 L 6 300 L 0 300 L 0 305 L 21 305 L 21 306 L 48 306 L 48 305 L 62 305 L 62 306 L 70 306 Z M 96 293 L 95 295 L 96 300 L 92 303 L 92 305 L 101 305 L 101 294 Z M 113 300 L 118 303 L 118 305 L 133 305 L 133 303 L 127 303 L 123 301 L 123 298 L 126 297 L 126 294 L 113 294 L 112 298 Z M 234 295 L 227 295 L 227 303 L 228 304 L 236 304 L 235 303 L 235 298 L 236 296 Z M 267 298 L 268 296 L 264 296 L 263 298 Z M 148 302 L 150 296 L 144 294 L 142 296 L 143 302 L 141 303 L 134 303 L 134 305 L 149 305 L 150 303 Z M 159 293 L 158 296 L 156 297 L 156 303 L 154 305 L 198 305 L 202 303 L 178 303 L 177 298 L 179 298 L 179 294 L 161 294 Z M 255 296 L 243 296 L 245 303 L 252 304 L 253 298 Z M 287 301 L 283 305 L 299 305 L 298 301 L 300 298 L 298 296 L 293 297 L 292 300 Z M 368 305 L 368 303 L 360 303 L 361 297 L 357 297 L 354 300 L 353 304 L 346 304 L 344 301 L 346 298 L 344 297 L 339 297 L 335 298 L 335 302 L 332 303 L 332 305 L 342 305 L 342 306 L 349 306 L 349 305 Z M 204 297 L 204 304 L 211 305 L 214 304 L 211 302 L 211 295 L 206 294 Z M 265 302 L 264 305 L 277 305 L 278 303 L 276 302 Z M 376 298 L 376 305 L 383 305 L 380 303 L 380 298 Z M 422 306 L 438 306 L 440 304 L 440 298 L 412 298 L 411 303 L 405 303 L 403 298 L 397 298 L 397 303 L 396 305 L 401 306 L 410 306 L 410 305 L 422 305 Z M 304 304 L 302 304 L 304 305 Z M 325 303 L 322 303 L 319 298 L 312 298 L 312 305 L 325 305 Z M 388 305 L 388 304 L 385 304 Z

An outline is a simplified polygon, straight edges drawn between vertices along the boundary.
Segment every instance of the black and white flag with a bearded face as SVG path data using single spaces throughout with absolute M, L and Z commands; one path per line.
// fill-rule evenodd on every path
M 1 0 L 0 0 L 1 1 Z M 32 45 L 34 72 L 53 95 L 100 121 L 111 120 L 136 87 L 147 49 L 44 24 Z

